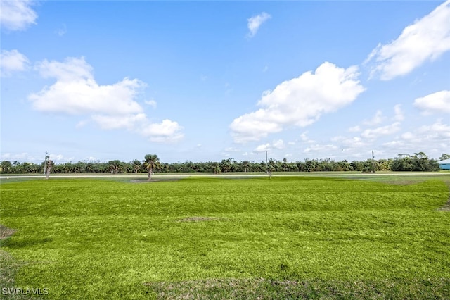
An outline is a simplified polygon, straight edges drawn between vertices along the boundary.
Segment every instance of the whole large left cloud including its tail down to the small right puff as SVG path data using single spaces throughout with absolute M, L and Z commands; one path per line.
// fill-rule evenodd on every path
M 136 101 L 144 82 L 125 77 L 113 85 L 98 85 L 93 68 L 84 58 L 65 61 L 42 61 L 35 68 L 42 77 L 56 78 L 50 87 L 30 94 L 28 99 L 37 111 L 89 115 L 105 130 L 125 129 L 148 137 L 154 142 L 173 142 L 183 137 L 182 127 L 172 120 L 151 123 Z M 155 107 L 156 102 L 148 102 Z M 83 120 L 77 126 L 83 126 Z

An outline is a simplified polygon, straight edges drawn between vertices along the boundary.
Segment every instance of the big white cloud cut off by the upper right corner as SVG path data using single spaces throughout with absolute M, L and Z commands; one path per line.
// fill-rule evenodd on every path
M 404 28 L 390 44 L 378 46 L 365 63 L 375 60 L 371 76 L 381 80 L 406 75 L 425 61 L 432 61 L 450 50 L 450 0 Z

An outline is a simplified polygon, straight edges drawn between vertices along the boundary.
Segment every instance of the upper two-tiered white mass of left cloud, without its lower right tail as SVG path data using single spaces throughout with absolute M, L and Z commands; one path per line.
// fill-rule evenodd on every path
M 134 101 L 138 90 L 145 87 L 140 80 L 124 78 L 114 85 L 98 85 L 92 74 L 93 68 L 84 58 L 42 61 L 35 68 L 42 77 L 56 78 L 50 87 L 28 96 L 37 111 L 71 115 L 124 115 L 143 111 Z

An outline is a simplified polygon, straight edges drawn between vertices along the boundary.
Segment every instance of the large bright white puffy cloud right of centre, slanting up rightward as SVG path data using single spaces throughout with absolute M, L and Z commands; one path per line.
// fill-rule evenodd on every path
M 313 73 L 277 85 L 266 91 L 258 101 L 257 111 L 241 115 L 230 125 L 234 142 L 257 141 L 280 132 L 283 127 L 304 127 L 314 123 L 323 113 L 352 103 L 364 92 L 357 79 L 356 67 L 338 68 L 333 63 L 323 63 Z

